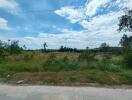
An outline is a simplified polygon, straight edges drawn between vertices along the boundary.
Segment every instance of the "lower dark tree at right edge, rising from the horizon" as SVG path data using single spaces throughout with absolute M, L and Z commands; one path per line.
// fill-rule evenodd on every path
M 123 35 L 121 38 L 119 45 L 121 45 L 125 51 L 128 51 L 132 48 L 132 36 Z

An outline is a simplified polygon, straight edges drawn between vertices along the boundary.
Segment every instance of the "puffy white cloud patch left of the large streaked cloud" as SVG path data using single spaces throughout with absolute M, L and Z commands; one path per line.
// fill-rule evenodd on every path
M 84 19 L 84 14 L 81 9 L 75 9 L 74 7 L 62 7 L 55 11 L 56 14 L 66 17 L 71 23 L 76 23 Z

